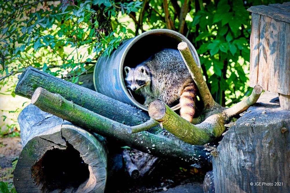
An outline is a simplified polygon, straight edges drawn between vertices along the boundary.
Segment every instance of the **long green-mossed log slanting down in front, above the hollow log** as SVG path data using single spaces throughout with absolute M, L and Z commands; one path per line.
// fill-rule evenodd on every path
M 59 94 L 50 93 L 45 89 L 38 88 L 35 91 L 32 104 L 84 129 L 114 139 L 140 151 L 159 157 L 182 159 L 201 166 L 209 165 L 211 157 L 207 154 L 208 150 L 211 149 L 210 146 L 192 146 L 172 135 L 154 135 L 146 131 L 130 134 L 127 132 L 131 129 L 130 126 L 98 115 L 64 99 Z

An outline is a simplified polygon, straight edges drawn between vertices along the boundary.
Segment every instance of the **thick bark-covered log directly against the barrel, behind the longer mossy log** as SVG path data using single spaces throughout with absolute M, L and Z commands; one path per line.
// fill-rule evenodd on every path
M 31 98 L 38 87 L 42 87 L 52 93 L 59 93 L 66 100 L 73 101 L 75 104 L 90 111 L 129 126 L 141 124 L 150 118 L 145 112 L 133 106 L 49 75 L 33 67 L 28 67 L 21 74 L 15 88 L 15 94 Z

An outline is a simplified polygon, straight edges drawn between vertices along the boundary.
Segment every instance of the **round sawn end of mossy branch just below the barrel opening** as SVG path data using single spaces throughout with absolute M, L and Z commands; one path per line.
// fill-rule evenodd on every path
M 149 116 L 154 120 L 160 120 L 164 117 L 166 106 L 161 100 L 155 100 L 148 106 Z

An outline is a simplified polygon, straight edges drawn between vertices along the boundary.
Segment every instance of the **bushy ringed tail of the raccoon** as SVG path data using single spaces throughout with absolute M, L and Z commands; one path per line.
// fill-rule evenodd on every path
M 194 82 L 186 84 L 180 95 L 180 116 L 189 122 L 192 121 L 195 113 L 196 86 Z

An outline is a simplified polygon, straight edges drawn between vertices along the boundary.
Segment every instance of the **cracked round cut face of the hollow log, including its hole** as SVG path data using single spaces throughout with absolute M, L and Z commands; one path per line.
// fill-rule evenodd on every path
M 86 131 L 62 125 L 60 131 L 34 137 L 24 146 L 14 171 L 15 188 L 17 192 L 103 191 L 106 153 Z

